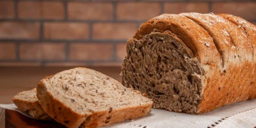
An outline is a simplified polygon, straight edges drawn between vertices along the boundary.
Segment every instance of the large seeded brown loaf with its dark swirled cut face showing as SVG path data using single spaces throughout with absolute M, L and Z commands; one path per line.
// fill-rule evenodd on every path
M 229 14 L 162 14 L 127 41 L 126 87 L 153 108 L 200 114 L 256 98 L 256 26 Z

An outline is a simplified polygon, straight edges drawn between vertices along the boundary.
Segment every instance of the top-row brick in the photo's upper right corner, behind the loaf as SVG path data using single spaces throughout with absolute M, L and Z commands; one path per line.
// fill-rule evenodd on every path
M 228 13 L 244 19 L 256 19 L 256 2 L 215 2 L 212 12 Z

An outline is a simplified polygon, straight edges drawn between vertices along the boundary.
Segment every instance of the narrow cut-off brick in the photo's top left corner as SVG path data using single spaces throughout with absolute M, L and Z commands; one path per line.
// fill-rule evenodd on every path
M 0 1 L 0 18 L 14 18 L 13 1 Z

